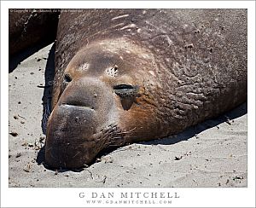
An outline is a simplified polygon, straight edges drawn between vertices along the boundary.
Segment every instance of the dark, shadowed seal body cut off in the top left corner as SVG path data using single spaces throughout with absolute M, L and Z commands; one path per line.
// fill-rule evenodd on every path
M 9 55 L 55 40 L 59 9 L 9 9 Z

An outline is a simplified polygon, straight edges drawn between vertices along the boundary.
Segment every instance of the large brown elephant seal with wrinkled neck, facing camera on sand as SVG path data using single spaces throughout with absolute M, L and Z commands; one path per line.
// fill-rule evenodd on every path
M 45 162 L 90 165 L 246 100 L 246 9 L 62 11 Z

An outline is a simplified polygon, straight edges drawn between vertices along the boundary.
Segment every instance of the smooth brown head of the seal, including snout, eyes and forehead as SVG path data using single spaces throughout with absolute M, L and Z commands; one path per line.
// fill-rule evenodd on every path
M 78 168 L 105 147 L 152 137 L 154 101 L 143 85 L 145 66 L 155 67 L 154 56 L 123 38 L 81 49 L 58 85 L 59 99 L 47 128 L 46 163 Z

